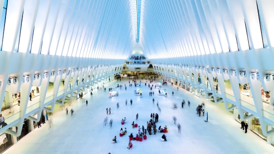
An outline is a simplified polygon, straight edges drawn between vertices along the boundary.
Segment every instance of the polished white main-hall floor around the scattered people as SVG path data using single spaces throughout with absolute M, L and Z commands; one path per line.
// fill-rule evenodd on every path
M 96 90 L 92 98 L 84 95 L 83 100 L 89 101 L 88 106 L 83 100 L 72 100 L 66 107 L 75 110 L 73 116 L 66 115 L 65 110 L 54 113 L 49 117 L 53 122 L 51 128 L 49 123 L 36 128 L 4 154 L 273 154 L 274 147 L 251 131 L 245 134 L 240 129 L 240 124 L 233 120 L 233 114 L 181 88 L 177 91 L 177 87 L 170 84 L 162 87 L 169 94 L 167 98 L 158 96 L 158 89 L 153 88 L 155 102 L 159 101 L 161 108 L 156 126 L 168 127 L 169 132 L 165 134 L 167 142 L 161 142 L 162 133 L 157 133 L 148 135 L 147 140 L 142 142 L 133 141 L 133 148 L 128 150 L 128 135 L 137 134 L 137 128 L 133 129 L 131 123 L 135 121 L 145 127 L 150 113 L 158 113 L 156 103 L 152 104 L 153 97 L 148 95 L 150 89 L 148 86 L 144 87 L 145 80 L 141 82 L 143 98 L 134 95 L 136 88 L 129 87 L 129 80 L 124 77 L 121 83 L 127 85 L 127 91 L 124 86 L 122 90 L 118 89 L 119 97 L 108 98 L 108 90 Z M 115 88 L 115 83 L 113 81 L 105 86 L 107 89 Z M 133 99 L 132 106 L 130 99 Z M 190 100 L 190 108 L 180 107 L 182 99 Z M 208 123 L 204 122 L 204 117 L 198 117 L 195 111 L 202 101 L 205 101 L 205 109 L 209 113 Z M 116 107 L 117 102 L 120 103 L 119 109 Z M 179 108 L 173 110 L 172 103 L 178 103 Z M 106 114 L 106 108 L 112 109 L 111 115 Z M 138 121 L 135 120 L 137 113 Z M 177 117 L 182 127 L 181 134 L 172 123 L 173 116 Z M 114 121 L 111 129 L 109 125 L 103 124 L 106 117 L 108 121 Z M 124 117 L 128 119 L 128 123 L 121 125 Z M 119 136 L 122 127 L 127 127 L 127 136 Z M 114 136 L 118 138 L 117 144 L 111 143 Z

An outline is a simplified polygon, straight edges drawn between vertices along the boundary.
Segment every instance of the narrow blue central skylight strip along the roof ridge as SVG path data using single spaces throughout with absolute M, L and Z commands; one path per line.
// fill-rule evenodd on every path
M 135 39 L 139 42 L 141 0 L 133 0 Z

